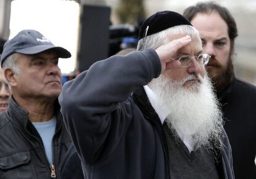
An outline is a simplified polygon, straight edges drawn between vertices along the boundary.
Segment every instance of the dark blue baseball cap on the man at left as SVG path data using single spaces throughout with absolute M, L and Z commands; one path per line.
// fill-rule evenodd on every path
M 45 50 L 53 49 L 59 58 L 69 58 L 68 50 L 54 46 L 43 34 L 36 30 L 22 30 L 14 38 L 4 44 L 1 55 L 1 66 L 4 60 L 15 52 L 26 55 L 33 55 Z

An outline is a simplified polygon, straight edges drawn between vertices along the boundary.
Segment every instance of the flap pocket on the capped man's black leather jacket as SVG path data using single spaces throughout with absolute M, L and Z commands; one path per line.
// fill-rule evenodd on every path
M 1 178 L 36 178 L 30 162 L 30 153 L 23 151 L 0 157 Z

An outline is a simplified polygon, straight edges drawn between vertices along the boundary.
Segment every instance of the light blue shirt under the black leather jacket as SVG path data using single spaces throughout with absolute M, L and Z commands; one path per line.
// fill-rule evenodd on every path
M 45 153 L 48 158 L 49 164 L 53 164 L 53 135 L 56 128 L 56 117 L 53 117 L 47 122 L 32 122 L 35 129 L 40 134 L 43 140 L 43 146 L 45 146 Z

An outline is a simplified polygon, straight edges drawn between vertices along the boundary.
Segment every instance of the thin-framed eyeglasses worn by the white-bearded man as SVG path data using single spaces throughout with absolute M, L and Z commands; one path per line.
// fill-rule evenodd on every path
M 171 59 L 179 60 L 179 62 L 181 62 L 181 66 L 188 67 L 192 64 L 193 58 L 197 60 L 198 65 L 207 65 L 211 56 L 208 54 L 200 54 L 198 56 L 184 55 L 182 57 L 179 57 L 179 59 L 173 59 L 173 58 Z

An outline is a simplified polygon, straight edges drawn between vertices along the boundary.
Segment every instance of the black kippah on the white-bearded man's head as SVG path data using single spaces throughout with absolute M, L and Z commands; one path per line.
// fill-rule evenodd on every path
M 147 20 L 143 22 L 142 26 L 140 26 L 140 33 L 138 39 L 140 40 L 144 38 L 146 31 L 147 36 L 150 36 L 151 34 L 158 33 L 160 31 L 177 25 L 191 25 L 191 23 L 189 22 L 189 20 L 187 20 L 187 18 L 177 12 L 169 10 L 156 12 L 156 14 L 148 17 Z

